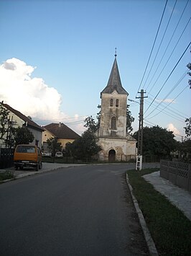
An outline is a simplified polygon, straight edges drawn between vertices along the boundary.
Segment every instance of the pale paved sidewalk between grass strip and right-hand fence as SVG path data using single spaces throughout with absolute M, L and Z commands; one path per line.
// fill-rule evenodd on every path
M 154 189 L 164 195 L 174 206 L 180 209 L 191 221 L 191 194 L 187 190 L 173 185 L 160 177 L 160 172 L 144 175 L 144 180 L 150 182 Z

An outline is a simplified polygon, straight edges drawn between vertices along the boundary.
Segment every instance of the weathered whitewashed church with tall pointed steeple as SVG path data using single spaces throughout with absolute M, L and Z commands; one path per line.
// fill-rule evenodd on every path
M 98 160 L 105 162 L 129 161 L 136 158 L 136 140 L 126 132 L 128 92 L 122 87 L 115 59 L 107 86 L 101 92 L 101 120 L 98 144 L 102 150 Z

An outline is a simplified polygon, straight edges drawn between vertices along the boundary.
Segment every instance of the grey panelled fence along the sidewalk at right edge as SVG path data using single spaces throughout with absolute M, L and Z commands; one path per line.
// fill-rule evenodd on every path
M 160 176 L 191 193 L 191 164 L 161 160 Z

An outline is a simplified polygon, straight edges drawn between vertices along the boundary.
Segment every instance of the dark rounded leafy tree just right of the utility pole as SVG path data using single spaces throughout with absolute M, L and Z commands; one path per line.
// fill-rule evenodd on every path
M 138 139 L 138 131 L 134 133 L 134 138 Z M 143 155 L 156 155 L 159 158 L 167 158 L 170 152 L 177 149 L 177 141 L 174 139 L 172 131 L 161 128 L 159 125 L 144 127 L 143 131 Z

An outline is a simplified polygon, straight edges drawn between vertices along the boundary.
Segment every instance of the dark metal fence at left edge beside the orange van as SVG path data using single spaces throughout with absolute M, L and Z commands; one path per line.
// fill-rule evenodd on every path
M 0 169 L 13 166 L 14 149 L 0 149 Z

